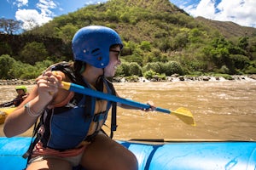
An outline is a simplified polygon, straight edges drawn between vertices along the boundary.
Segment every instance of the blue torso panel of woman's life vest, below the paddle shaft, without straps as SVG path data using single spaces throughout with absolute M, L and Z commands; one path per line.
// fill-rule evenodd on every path
M 108 94 L 112 94 L 106 81 L 104 81 L 105 89 L 107 89 Z M 89 102 L 90 105 L 86 105 L 86 102 Z M 102 103 L 107 105 L 102 106 Z M 88 98 L 88 96 L 83 95 L 79 103 L 75 105 L 72 104 L 71 106 L 68 103 L 59 108 L 46 110 L 44 120 L 42 120 L 45 132 L 41 138 L 44 147 L 67 150 L 75 148 L 84 140 L 90 140 L 90 137 L 95 136 L 101 130 L 108 117 L 111 104 L 110 101 L 103 101 L 94 97 Z M 96 108 L 100 107 L 97 105 L 105 108 Z M 90 113 L 86 111 L 87 109 Z M 99 110 L 100 112 L 96 112 Z M 91 128 L 93 132 L 90 132 Z

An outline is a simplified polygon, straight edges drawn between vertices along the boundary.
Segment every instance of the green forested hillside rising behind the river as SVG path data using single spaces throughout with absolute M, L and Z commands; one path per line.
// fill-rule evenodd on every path
M 21 35 L 1 34 L 0 78 L 33 78 L 54 62 L 73 59 L 73 35 L 90 25 L 111 27 L 122 37 L 117 76 L 255 74 L 256 29 L 236 25 L 239 33 L 232 34 L 231 25 L 212 23 L 194 19 L 168 0 L 86 6 Z

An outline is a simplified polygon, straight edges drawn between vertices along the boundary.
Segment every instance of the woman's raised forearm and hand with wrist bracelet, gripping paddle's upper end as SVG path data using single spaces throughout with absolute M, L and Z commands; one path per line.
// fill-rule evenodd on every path
M 58 92 L 61 77 L 55 77 L 51 71 L 37 78 L 37 85 L 32 89 L 28 97 L 7 116 L 3 127 L 3 133 L 7 137 L 13 137 L 24 133 L 37 121 L 37 113 L 40 113 L 54 98 Z M 29 109 L 25 105 L 29 102 Z M 36 113 L 33 115 L 33 113 Z

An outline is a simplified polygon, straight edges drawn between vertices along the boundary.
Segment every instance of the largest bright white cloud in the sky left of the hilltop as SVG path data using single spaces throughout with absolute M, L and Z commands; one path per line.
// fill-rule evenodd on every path
M 22 28 L 24 30 L 28 31 L 32 30 L 35 26 L 42 26 L 55 16 L 51 9 L 56 8 L 56 4 L 52 0 L 39 0 L 37 8 L 40 12 L 36 9 L 24 8 L 19 8 L 16 11 L 15 18 L 23 22 Z

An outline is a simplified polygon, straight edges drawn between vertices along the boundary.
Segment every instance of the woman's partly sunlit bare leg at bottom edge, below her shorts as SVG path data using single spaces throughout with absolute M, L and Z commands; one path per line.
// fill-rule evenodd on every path
M 72 166 L 68 161 L 60 160 L 60 159 L 55 159 L 55 158 L 48 158 L 46 160 L 42 161 L 34 161 L 32 162 L 26 170 L 71 170 Z

